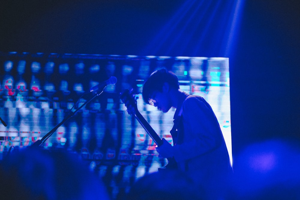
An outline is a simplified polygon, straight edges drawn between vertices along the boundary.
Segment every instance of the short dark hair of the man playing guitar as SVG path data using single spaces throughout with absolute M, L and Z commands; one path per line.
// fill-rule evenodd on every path
M 167 82 L 170 88 L 179 89 L 179 82 L 177 76 L 166 70 L 165 68 L 156 70 L 145 81 L 143 86 L 143 100 L 149 104 L 149 98 L 155 91 L 162 92 L 164 83 Z

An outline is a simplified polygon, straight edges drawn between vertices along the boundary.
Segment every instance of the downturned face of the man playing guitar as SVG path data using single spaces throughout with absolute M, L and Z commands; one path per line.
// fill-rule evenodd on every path
M 151 95 L 149 103 L 150 105 L 157 107 L 157 109 L 161 110 L 162 112 L 168 112 L 172 107 L 170 105 L 169 97 L 165 92 L 155 91 Z

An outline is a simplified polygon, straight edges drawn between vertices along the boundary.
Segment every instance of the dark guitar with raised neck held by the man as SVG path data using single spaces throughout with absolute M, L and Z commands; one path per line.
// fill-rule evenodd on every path
M 163 144 L 163 141 L 158 136 L 158 134 L 153 130 L 153 128 L 150 126 L 148 121 L 143 117 L 143 115 L 139 112 L 137 109 L 137 100 L 135 98 L 135 94 L 133 94 L 132 90 L 126 89 L 121 94 L 121 100 L 123 103 L 125 103 L 125 106 L 127 108 L 127 112 L 129 115 L 133 115 L 137 121 L 142 125 L 142 127 L 146 130 L 148 135 L 152 138 L 152 140 L 155 142 L 155 144 L 159 147 Z M 172 158 L 167 158 L 168 164 L 164 166 L 163 168 L 159 168 L 158 171 L 163 171 L 164 169 L 177 169 L 177 163 Z

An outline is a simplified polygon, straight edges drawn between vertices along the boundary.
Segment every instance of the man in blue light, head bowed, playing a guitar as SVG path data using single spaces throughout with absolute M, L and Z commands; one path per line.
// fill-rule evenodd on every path
M 174 157 L 178 169 L 197 181 L 212 181 L 232 172 L 220 125 L 211 106 L 200 96 L 179 88 L 177 76 L 166 69 L 153 72 L 143 86 L 143 100 L 162 112 L 176 108 L 170 131 L 156 148 L 161 157 Z

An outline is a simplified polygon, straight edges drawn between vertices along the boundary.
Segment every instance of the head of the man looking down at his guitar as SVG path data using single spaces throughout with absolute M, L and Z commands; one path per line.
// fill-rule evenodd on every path
M 170 91 L 178 91 L 177 76 L 166 69 L 153 72 L 143 86 L 143 100 L 163 112 L 168 112 L 172 107 Z

